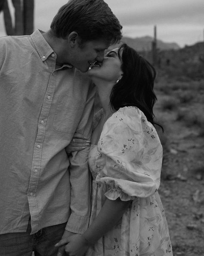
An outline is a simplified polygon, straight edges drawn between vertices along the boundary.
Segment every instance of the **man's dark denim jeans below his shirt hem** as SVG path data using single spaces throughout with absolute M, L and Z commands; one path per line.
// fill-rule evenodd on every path
M 25 233 L 8 233 L 0 235 L 0 256 L 57 256 L 59 242 L 65 231 L 66 223 L 44 227 L 30 235 L 31 223 Z

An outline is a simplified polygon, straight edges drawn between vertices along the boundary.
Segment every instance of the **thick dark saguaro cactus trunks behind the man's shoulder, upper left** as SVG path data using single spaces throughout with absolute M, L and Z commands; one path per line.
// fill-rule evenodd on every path
M 7 35 L 30 35 L 34 29 L 34 0 L 12 0 L 15 10 L 14 26 L 8 0 L 0 0 Z M 1 9 L 0 9 L 1 10 Z

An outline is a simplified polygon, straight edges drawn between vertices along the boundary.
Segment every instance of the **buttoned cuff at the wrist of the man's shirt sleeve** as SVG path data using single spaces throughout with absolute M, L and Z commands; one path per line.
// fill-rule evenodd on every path
M 79 216 L 72 213 L 68 219 L 65 230 L 76 234 L 83 234 L 88 228 L 89 220 L 89 217 Z

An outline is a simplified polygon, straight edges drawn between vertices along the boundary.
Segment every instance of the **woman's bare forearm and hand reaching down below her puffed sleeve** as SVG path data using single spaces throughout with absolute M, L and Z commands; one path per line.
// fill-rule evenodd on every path
M 89 246 L 96 243 L 100 237 L 111 230 L 115 224 L 121 219 L 124 211 L 127 209 L 130 201 L 121 201 L 106 199 L 101 211 L 97 215 L 93 223 L 83 233 L 83 235 L 73 235 L 67 239 L 62 239 L 56 246 L 65 245 L 65 252 L 69 256 L 82 256 Z

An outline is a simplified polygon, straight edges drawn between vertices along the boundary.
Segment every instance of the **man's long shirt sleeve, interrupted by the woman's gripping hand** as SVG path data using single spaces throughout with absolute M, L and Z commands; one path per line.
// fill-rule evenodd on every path
M 96 90 L 91 87 L 82 118 L 76 132 L 91 137 L 93 123 L 93 105 Z M 91 175 L 88 167 L 89 147 L 72 152 L 70 158 L 70 183 L 71 183 L 71 215 L 68 219 L 66 230 L 82 234 L 87 230 L 90 220 L 91 205 Z

